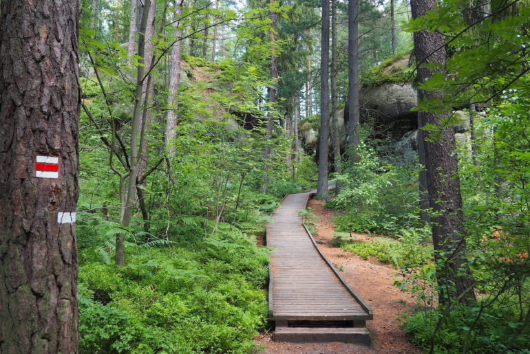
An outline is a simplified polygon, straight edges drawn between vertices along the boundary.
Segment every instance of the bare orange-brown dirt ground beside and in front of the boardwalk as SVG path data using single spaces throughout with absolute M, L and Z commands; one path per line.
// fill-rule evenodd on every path
M 264 347 L 259 353 L 341 354 L 341 353 L 421 353 L 407 341 L 401 322 L 414 302 L 409 294 L 394 287 L 396 269 L 375 259 L 363 260 L 357 254 L 333 245 L 335 212 L 324 208 L 323 201 L 311 199 L 308 204 L 318 217 L 315 240 L 328 260 L 340 269 L 341 276 L 374 311 L 374 320 L 367 322 L 372 333 L 370 347 L 359 344 L 284 343 L 273 342 L 272 333 L 259 335 L 257 344 Z M 353 234 L 356 241 L 367 241 L 370 236 Z

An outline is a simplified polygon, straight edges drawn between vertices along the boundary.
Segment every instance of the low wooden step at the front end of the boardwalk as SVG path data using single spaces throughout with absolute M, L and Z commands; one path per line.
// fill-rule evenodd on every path
M 346 342 L 370 344 L 370 333 L 363 327 L 276 327 L 276 342 Z

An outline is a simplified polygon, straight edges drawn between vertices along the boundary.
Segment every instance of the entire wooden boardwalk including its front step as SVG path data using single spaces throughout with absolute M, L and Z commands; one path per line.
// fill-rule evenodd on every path
M 372 309 L 344 283 L 299 217 L 310 195 L 288 195 L 267 226 L 273 338 L 369 343 L 365 320 L 373 318 Z

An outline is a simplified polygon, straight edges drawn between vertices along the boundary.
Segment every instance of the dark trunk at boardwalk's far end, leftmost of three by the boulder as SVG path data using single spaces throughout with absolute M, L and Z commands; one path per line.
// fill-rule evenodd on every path
M 330 1 L 322 0 L 320 61 L 320 137 L 317 198 L 328 200 L 328 140 L 330 121 Z

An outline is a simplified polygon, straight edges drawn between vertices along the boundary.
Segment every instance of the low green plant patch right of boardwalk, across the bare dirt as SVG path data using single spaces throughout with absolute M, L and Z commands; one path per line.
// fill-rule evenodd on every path
M 423 242 L 424 236 L 410 230 L 404 232 L 398 240 L 387 237 L 372 237 L 370 242 L 352 241 L 347 232 L 335 232 L 335 243 L 343 250 L 353 252 L 363 259 L 377 258 L 396 268 L 418 267 L 432 257 L 432 246 Z

